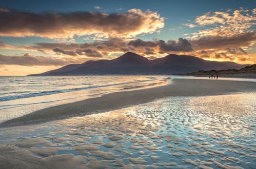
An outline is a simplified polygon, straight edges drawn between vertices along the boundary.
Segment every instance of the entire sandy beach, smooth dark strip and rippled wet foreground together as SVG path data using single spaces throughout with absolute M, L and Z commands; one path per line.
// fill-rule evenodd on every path
M 253 168 L 252 81 L 179 79 L 0 124 L 10 168 Z

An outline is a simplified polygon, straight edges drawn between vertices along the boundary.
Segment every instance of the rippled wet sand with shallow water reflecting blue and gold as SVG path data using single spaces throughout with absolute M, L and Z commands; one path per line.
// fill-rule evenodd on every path
M 29 167 L 254 168 L 255 124 L 256 93 L 168 97 L 0 129 L 0 161 L 11 150 Z

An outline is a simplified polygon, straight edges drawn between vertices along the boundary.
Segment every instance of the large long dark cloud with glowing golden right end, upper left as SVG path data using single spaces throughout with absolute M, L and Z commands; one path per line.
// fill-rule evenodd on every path
M 63 39 L 95 35 L 127 38 L 158 32 L 164 27 L 164 17 L 150 10 L 130 9 L 126 13 L 33 13 L 0 9 L 0 23 L 4 23 L 0 27 L 0 36 Z

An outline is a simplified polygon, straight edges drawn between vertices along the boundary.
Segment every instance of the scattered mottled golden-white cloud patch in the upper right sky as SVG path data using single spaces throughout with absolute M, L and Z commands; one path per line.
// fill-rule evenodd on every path
M 195 18 L 194 23 L 184 24 L 188 27 L 200 27 L 198 32 L 191 33 L 191 38 L 201 38 L 206 36 L 233 36 L 238 33 L 250 32 L 250 28 L 256 25 L 256 16 L 253 10 L 231 10 L 227 12 L 207 12 Z

